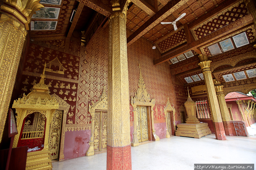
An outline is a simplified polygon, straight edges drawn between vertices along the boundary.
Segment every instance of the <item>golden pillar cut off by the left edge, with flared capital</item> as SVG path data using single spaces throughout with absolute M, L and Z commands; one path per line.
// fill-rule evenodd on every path
M 0 142 L 10 105 L 20 55 L 32 15 L 44 7 L 39 0 L 0 3 Z

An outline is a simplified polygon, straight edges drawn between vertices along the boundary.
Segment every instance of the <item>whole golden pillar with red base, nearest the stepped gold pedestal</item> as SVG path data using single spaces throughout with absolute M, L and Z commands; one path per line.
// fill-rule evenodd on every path
M 204 83 L 206 85 L 206 91 L 209 99 L 210 109 L 212 113 L 212 122 L 214 123 L 214 131 L 216 139 L 226 140 L 226 134 L 221 119 L 221 110 L 219 109 L 219 103 L 214 87 L 214 82 L 211 75 L 211 62 L 206 56 L 199 55 L 200 63 L 198 64 L 202 68 L 204 75 Z

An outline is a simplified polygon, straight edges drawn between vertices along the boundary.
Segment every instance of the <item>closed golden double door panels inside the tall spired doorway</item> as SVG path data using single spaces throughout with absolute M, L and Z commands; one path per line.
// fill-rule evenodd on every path
M 147 127 L 147 107 L 137 106 L 137 135 L 138 141 L 148 141 L 148 127 Z

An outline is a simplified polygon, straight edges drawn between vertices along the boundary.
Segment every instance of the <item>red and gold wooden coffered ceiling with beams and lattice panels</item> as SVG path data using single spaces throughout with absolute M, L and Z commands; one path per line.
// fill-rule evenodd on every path
M 121 3 L 124 1 L 121 0 Z M 108 17 L 112 13 L 110 0 L 62 0 L 60 5 L 44 4 L 44 6 L 60 8 L 60 14 L 58 19 L 54 20 L 57 21 L 55 30 L 30 31 L 31 39 L 37 41 L 80 40 L 81 31 L 84 31 L 86 46 L 98 28 L 108 25 Z M 69 20 L 74 9 L 76 14 L 71 23 Z M 162 21 L 176 20 L 182 13 L 186 15 L 177 21 L 177 31 L 174 31 L 172 24 L 161 24 Z M 199 54 L 207 56 L 214 62 L 220 56 L 231 55 L 241 48 L 212 56 L 208 46 L 242 32 L 246 32 L 250 44 L 256 41 L 253 16 L 242 0 L 131 0 L 126 27 L 128 46 L 140 37 L 151 41 L 162 55 L 161 58 L 154 60 L 154 64 L 168 62 L 172 75 L 177 75 L 184 84 L 187 83 L 184 80 L 186 76 L 200 74 Z M 193 53 L 193 57 L 175 64 L 170 62 L 170 59 L 189 51 Z M 254 60 L 245 61 L 244 65 L 253 63 Z M 233 67 L 241 67 L 241 64 L 243 63 L 237 63 L 237 66 L 223 65 L 215 68 L 214 71 L 232 70 Z M 213 76 L 218 79 L 219 74 L 215 73 Z M 221 78 L 218 80 L 222 81 Z

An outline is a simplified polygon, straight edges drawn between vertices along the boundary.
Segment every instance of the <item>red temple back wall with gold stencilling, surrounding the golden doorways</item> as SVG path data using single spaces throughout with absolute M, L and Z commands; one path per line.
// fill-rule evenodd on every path
M 67 47 L 67 48 L 65 48 Z M 56 94 L 65 100 L 71 107 L 65 124 L 64 159 L 71 159 L 86 155 L 89 148 L 91 115 L 89 104 L 99 100 L 103 87 L 107 87 L 108 79 L 108 28 L 99 29 L 87 47 L 78 42 L 65 40 L 33 41 L 26 56 L 25 67 L 22 73 L 19 95 L 26 95 L 32 90 L 35 83 L 39 83 L 44 63 L 58 57 L 60 63 L 67 70 L 63 74 L 46 71 L 45 84 L 49 85 L 50 94 Z M 177 112 L 175 87 L 168 63 L 153 65 L 153 60 L 161 57 L 158 50 L 151 48 L 151 43 L 140 38 L 127 48 L 129 94 L 134 96 L 138 89 L 139 62 L 141 72 L 151 99 L 155 99 L 154 125 L 156 134 L 160 138 L 166 135 L 166 120 L 163 108 L 167 98 L 176 108 L 176 122 L 180 122 Z M 72 88 L 72 87 L 75 88 Z M 107 89 L 106 89 L 107 90 Z M 157 110 L 156 110 L 157 108 Z M 130 105 L 131 140 L 133 133 L 133 107 Z M 63 134 L 62 134 L 63 135 Z

